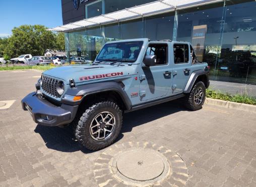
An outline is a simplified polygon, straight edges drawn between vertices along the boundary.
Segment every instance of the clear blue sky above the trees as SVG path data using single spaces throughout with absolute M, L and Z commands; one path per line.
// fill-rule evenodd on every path
M 21 25 L 62 25 L 61 0 L 0 0 L 0 37 Z

